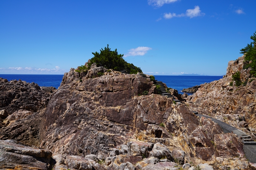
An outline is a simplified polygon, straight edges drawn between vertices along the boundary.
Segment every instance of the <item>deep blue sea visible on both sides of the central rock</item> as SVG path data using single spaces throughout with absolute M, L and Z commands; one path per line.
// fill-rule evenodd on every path
M 166 83 L 168 87 L 177 89 L 179 93 L 181 90 L 200 85 L 203 83 L 210 83 L 214 80 L 219 80 L 222 76 L 184 76 L 184 75 L 154 75 L 155 79 Z M 29 83 L 37 83 L 39 86 L 53 86 L 56 89 L 61 84 L 63 75 L 38 75 L 38 74 L 0 74 L 0 77 L 10 80 L 22 80 Z

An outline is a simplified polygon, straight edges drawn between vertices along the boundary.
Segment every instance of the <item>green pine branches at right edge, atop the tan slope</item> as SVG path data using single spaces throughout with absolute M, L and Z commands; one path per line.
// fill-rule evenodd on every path
M 256 33 L 256 32 L 255 32 Z M 251 75 L 256 76 L 256 34 L 253 33 L 251 36 L 250 44 L 247 44 L 245 48 L 242 48 L 240 51 L 245 55 L 245 66 L 244 69 L 251 68 Z

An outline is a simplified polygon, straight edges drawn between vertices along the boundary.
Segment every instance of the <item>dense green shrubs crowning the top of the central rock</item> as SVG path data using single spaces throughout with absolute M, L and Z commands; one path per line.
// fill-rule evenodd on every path
M 98 66 L 103 66 L 106 69 L 113 69 L 115 71 L 126 70 L 129 74 L 137 74 L 142 70 L 139 67 L 134 66 L 132 63 L 127 63 L 122 57 L 123 54 L 118 54 L 117 49 L 111 51 L 111 48 L 105 47 L 101 48 L 101 52 L 92 53 L 94 57 L 90 59 L 88 66 L 90 67 L 93 63 Z

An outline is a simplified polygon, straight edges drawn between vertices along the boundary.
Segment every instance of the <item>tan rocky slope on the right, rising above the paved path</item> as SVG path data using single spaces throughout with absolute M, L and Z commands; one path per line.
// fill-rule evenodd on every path
M 230 61 L 224 78 L 201 84 L 187 104 L 198 113 L 210 115 L 240 128 L 256 140 L 256 81 L 249 78 L 250 70 L 243 70 L 244 56 Z M 230 86 L 232 74 L 241 72 L 245 86 Z M 200 110 L 201 109 L 201 110 Z

